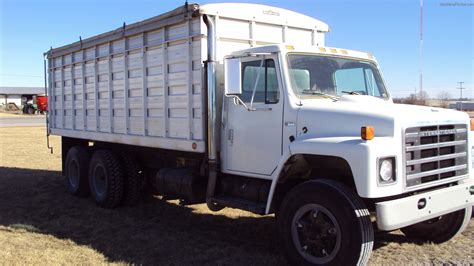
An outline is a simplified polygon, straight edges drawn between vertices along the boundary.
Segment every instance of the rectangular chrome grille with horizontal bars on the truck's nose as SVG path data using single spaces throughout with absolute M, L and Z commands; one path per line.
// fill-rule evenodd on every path
M 467 134 L 462 124 L 406 129 L 406 187 L 467 174 Z

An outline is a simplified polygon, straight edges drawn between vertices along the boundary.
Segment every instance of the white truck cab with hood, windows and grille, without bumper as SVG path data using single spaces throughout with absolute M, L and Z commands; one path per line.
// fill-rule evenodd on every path
M 364 198 L 469 177 L 469 116 L 394 104 L 370 53 L 264 46 L 232 54 L 225 71 L 225 173 L 274 179 L 295 154 L 334 156 Z

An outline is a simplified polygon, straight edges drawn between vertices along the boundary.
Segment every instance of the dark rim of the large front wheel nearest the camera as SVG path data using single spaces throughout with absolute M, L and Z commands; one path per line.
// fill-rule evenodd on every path
M 325 264 L 341 246 L 341 230 L 334 215 L 318 204 L 306 204 L 296 211 L 291 237 L 298 253 L 308 262 Z

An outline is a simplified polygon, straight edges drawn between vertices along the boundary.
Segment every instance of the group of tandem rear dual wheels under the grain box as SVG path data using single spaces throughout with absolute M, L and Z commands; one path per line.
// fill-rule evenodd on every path
M 132 206 L 143 197 L 145 176 L 137 161 L 125 152 L 119 156 L 110 150 L 97 150 L 90 158 L 86 147 L 72 147 L 66 156 L 64 173 L 71 194 L 92 194 L 101 207 Z

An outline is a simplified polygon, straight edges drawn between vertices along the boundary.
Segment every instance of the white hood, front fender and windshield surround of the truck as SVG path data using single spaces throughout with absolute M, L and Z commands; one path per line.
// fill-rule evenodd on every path
M 334 48 L 340 51 L 339 48 Z M 319 48 L 295 46 L 294 50 L 287 50 L 285 46 L 271 46 L 255 48 L 255 52 L 279 50 L 281 58 L 287 52 L 304 52 L 314 54 L 330 54 L 330 48 L 320 51 Z M 371 60 L 377 64 L 368 53 L 346 50 L 346 57 Z M 236 54 L 244 54 L 249 50 Z M 370 96 L 347 95 L 338 101 L 331 99 L 299 100 L 290 88 L 286 60 L 280 60 L 283 66 L 283 82 L 285 84 L 285 122 L 294 122 L 296 125 L 284 126 L 283 156 L 271 176 L 272 186 L 267 202 L 267 213 L 270 211 L 271 200 L 278 182 L 278 177 L 285 162 L 295 154 L 314 154 L 337 156 L 346 160 L 351 167 L 357 193 L 365 198 L 378 198 L 399 195 L 406 192 L 404 187 L 404 151 L 402 150 L 404 130 L 409 127 L 439 124 L 467 124 L 469 117 L 466 113 L 442 108 L 431 108 L 413 105 L 394 104 L 391 99 L 383 100 Z M 291 124 L 291 123 L 290 123 Z M 360 137 L 362 126 L 375 127 L 375 139 L 364 141 Z M 307 127 L 304 134 L 302 128 Z M 287 133 L 286 133 L 287 132 Z M 287 136 L 294 134 L 296 140 L 288 142 Z M 471 138 L 468 147 L 471 147 Z M 377 158 L 393 156 L 396 158 L 397 182 L 387 186 L 377 185 L 376 161 Z M 471 150 L 468 151 L 471 158 Z M 262 178 L 261 176 L 255 176 Z M 448 183 L 460 179 L 469 180 L 468 175 L 444 179 L 440 182 L 431 182 L 424 187 Z M 470 178 L 472 180 L 472 177 Z M 422 188 L 422 187 L 419 187 Z M 418 189 L 419 189 L 418 188 Z

